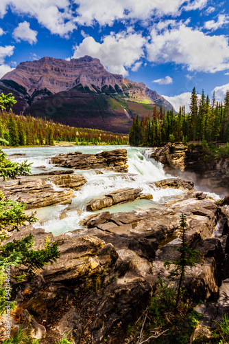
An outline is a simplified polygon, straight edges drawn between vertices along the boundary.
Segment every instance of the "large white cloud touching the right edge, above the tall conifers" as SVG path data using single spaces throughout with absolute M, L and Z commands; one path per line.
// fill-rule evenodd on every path
M 208 36 L 179 23 L 178 28 L 163 32 L 152 29 L 147 43 L 147 58 L 154 63 L 174 62 L 187 65 L 189 71 L 217 72 L 229 67 L 228 38 Z

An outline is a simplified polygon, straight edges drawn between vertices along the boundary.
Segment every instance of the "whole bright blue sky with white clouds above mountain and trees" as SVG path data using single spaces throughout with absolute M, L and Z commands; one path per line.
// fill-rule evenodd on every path
M 99 58 L 178 109 L 229 89 L 229 1 L 1 0 L 0 77 L 43 56 Z

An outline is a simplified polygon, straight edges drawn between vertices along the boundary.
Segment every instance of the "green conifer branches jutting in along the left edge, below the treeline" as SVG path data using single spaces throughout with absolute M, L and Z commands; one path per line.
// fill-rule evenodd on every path
M 1 152 L 0 168 L 4 178 L 6 176 L 15 178 L 16 174 L 29 173 L 29 166 L 26 162 L 22 164 L 11 163 L 5 158 L 5 153 Z M 27 216 L 23 213 L 24 209 L 25 206 L 20 203 L 3 200 L 3 193 L 0 191 L 0 241 L 7 239 L 5 230 L 18 229 L 25 222 L 31 224 L 36 221 L 34 214 Z M 46 264 L 53 264 L 60 257 L 58 244 L 49 244 L 49 241 L 47 241 L 45 248 L 37 251 L 33 250 L 33 246 L 34 237 L 31 233 L 21 240 L 14 239 L 12 242 L 0 246 L 0 315 L 5 312 L 6 300 L 9 301 L 11 297 L 10 287 L 5 286 L 5 280 L 7 279 L 5 269 L 9 270 L 10 266 L 21 268 L 21 272 L 25 273 L 25 275 L 15 277 L 17 281 L 20 281 L 26 275 L 34 275 L 36 270 L 43 268 Z M 15 302 L 10 303 L 11 307 L 14 307 L 14 305 Z

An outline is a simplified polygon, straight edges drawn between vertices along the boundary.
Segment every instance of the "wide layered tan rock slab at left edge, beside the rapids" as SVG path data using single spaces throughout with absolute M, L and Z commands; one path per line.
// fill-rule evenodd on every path
M 1 182 L 0 189 L 6 200 L 39 208 L 53 204 L 71 204 L 73 190 L 86 183 L 83 175 L 51 175 L 49 178 L 10 180 Z

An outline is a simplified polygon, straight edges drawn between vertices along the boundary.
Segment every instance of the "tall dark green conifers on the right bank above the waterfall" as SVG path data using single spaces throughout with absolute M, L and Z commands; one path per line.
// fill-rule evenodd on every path
M 140 122 L 137 116 L 133 120 L 129 139 L 132 146 L 149 147 L 178 141 L 228 142 L 229 92 L 226 92 L 224 103 L 219 103 L 215 100 L 215 94 L 210 101 L 204 91 L 198 100 L 194 87 L 189 114 L 185 113 L 185 107 L 180 107 L 179 114 L 173 114 L 171 110 L 167 114 L 153 116 L 152 120 L 148 117 Z

